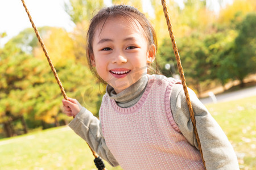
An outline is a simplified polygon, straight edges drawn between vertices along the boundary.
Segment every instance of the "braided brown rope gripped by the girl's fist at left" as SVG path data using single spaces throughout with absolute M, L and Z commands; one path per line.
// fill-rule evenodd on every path
M 49 54 L 48 54 L 48 52 L 47 52 L 47 50 L 46 50 L 46 46 L 44 45 L 44 42 L 43 42 L 42 38 L 41 38 L 40 35 L 39 35 L 38 29 L 36 28 L 36 26 L 35 26 L 35 24 L 34 24 L 34 22 L 33 22 L 33 20 L 32 20 L 32 17 L 31 17 L 31 15 L 30 15 L 30 12 L 28 11 L 27 6 L 26 6 L 24 0 L 21 0 L 21 1 L 22 1 L 22 3 L 23 3 L 23 6 L 24 6 L 26 12 L 27 12 L 28 18 L 30 19 L 30 23 L 31 23 L 32 27 L 34 28 L 34 31 L 35 31 L 35 33 L 36 33 L 36 37 L 38 37 L 38 41 L 40 42 L 40 45 L 42 46 L 42 49 L 43 49 L 43 51 L 44 51 L 44 54 L 45 54 L 45 56 L 46 56 L 46 58 L 47 58 L 47 61 L 48 61 L 48 63 L 49 63 L 49 66 L 51 67 L 52 72 L 53 72 L 53 74 L 54 74 L 54 76 L 55 76 L 55 79 L 57 80 L 57 83 L 59 84 L 61 93 L 63 94 L 64 99 L 68 100 L 68 96 L 67 96 L 67 94 L 65 93 L 65 90 L 64 90 L 64 88 L 63 88 L 63 86 L 62 86 L 62 84 L 61 84 L 61 82 L 60 82 L 59 76 L 57 75 L 57 72 L 56 72 L 56 70 L 55 70 L 55 67 L 53 66 L 53 63 L 52 63 L 52 61 L 51 61 L 51 58 L 49 57 Z M 88 144 L 88 143 L 87 143 L 87 144 Z M 88 146 L 89 146 L 89 144 L 88 144 Z M 89 146 L 89 148 L 90 148 L 90 150 L 92 151 L 92 154 L 93 154 L 94 158 L 98 158 L 98 155 L 96 154 L 96 152 L 94 152 L 90 146 Z M 104 168 L 104 169 L 105 169 L 105 168 Z M 105 169 L 105 170 L 106 170 L 106 169 Z

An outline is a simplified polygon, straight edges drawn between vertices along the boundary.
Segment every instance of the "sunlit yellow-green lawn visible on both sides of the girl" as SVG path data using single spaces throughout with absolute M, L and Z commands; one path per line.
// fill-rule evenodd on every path
M 256 169 L 255 101 L 256 96 L 207 105 L 238 153 L 241 169 Z M 67 126 L 0 140 L 0 169 L 96 169 L 93 159 L 85 141 Z

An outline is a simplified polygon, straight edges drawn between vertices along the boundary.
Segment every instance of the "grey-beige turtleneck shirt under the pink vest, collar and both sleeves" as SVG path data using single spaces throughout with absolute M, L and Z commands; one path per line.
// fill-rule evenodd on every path
M 115 103 L 121 108 L 133 107 L 141 99 L 148 83 L 148 76 L 145 75 L 139 79 L 138 82 L 119 94 L 116 94 L 113 87 L 108 85 L 106 95 L 108 95 L 110 99 L 115 100 Z M 225 133 L 199 101 L 195 93 L 189 88 L 188 91 L 195 113 L 197 132 L 200 137 L 207 170 L 239 169 L 236 154 L 228 138 L 226 138 Z M 192 146 L 198 149 L 183 87 L 179 83 L 174 84 L 172 88 L 170 105 L 172 117 L 182 135 L 184 135 Z M 109 147 L 106 145 L 104 135 L 102 134 L 101 122 L 97 117 L 94 117 L 88 109 L 80 105 L 80 112 L 70 122 L 69 126 L 84 139 L 101 158 L 105 159 L 112 166 L 119 165 L 112 152 L 109 150 Z M 175 169 L 179 169 L 179 167 L 177 166 Z

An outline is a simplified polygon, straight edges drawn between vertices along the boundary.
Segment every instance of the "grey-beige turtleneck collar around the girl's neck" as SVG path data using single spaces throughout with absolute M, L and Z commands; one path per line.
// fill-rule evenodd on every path
M 114 88 L 108 84 L 106 92 L 110 99 L 114 99 L 119 107 L 129 108 L 139 101 L 147 86 L 147 75 L 142 76 L 136 83 L 116 94 Z

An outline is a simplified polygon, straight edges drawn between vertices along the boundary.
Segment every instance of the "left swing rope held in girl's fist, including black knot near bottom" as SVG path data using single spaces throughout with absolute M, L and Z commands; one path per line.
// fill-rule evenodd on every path
M 47 50 L 46 50 L 46 46 L 44 45 L 44 42 L 43 42 L 42 38 L 41 38 L 40 35 L 39 35 L 38 29 L 36 28 L 36 26 L 35 26 L 35 24 L 34 24 L 34 22 L 33 22 L 33 20 L 32 20 L 32 17 L 31 17 L 31 15 L 30 15 L 30 12 L 28 11 L 27 6 L 26 6 L 24 0 L 21 0 L 21 1 L 22 1 L 22 4 L 23 4 L 23 7 L 25 8 L 25 10 L 26 10 L 26 12 L 27 12 L 28 18 L 30 19 L 30 23 L 31 23 L 32 27 L 34 28 L 36 37 L 38 37 L 38 41 L 39 41 L 40 45 L 42 46 L 43 52 L 44 52 L 44 54 L 45 54 L 45 56 L 46 56 L 46 58 L 47 58 L 47 61 L 48 61 L 48 63 L 49 63 L 49 66 L 50 66 L 51 69 L 52 69 L 52 73 L 54 74 L 55 79 L 57 80 L 57 83 L 59 84 L 61 93 L 62 93 L 64 99 L 68 100 L 68 96 L 67 96 L 67 94 L 65 93 L 65 90 L 64 90 L 64 88 L 63 88 L 63 86 L 62 86 L 62 84 L 61 84 L 61 82 L 60 82 L 59 76 L 57 75 L 57 72 L 56 72 L 56 70 L 55 70 L 55 67 L 53 66 L 52 60 L 51 60 L 51 58 L 49 57 L 49 54 L 48 54 L 48 52 L 47 52 Z M 87 143 L 87 144 L 88 144 L 88 143 Z M 88 145 L 88 146 L 89 146 L 89 145 Z M 94 163 L 95 163 L 96 167 L 97 167 L 99 170 L 102 170 L 102 169 L 105 169 L 105 170 L 106 170 L 105 165 L 104 165 L 104 162 L 102 161 L 102 159 L 96 154 L 96 152 L 94 152 L 94 151 L 92 150 L 92 148 L 91 148 L 90 146 L 89 146 L 89 148 L 90 148 L 90 150 L 92 151 L 92 154 L 93 154 L 93 156 L 94 156 L 94 158 L 95 158 L 95 159 L 94 159 Z

